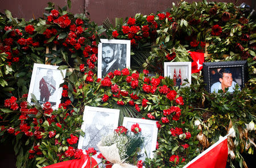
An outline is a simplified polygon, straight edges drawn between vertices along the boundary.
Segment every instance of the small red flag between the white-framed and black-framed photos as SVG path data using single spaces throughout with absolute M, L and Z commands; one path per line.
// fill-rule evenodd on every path
M 200 70 L 203 69 L 204 53 L 192 51 L 189 51 L 188 53 L 190 53 L 190 56 L 193 60 L 191 63 L 191 73 L 200 72 Z

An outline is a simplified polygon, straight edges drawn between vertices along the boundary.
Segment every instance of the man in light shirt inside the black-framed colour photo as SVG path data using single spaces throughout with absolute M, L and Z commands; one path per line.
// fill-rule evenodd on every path
M 217 75 L 219 82 L 213 83 L 213 85 L 210 87 L 210 93 L 218 93 L 218 90 L 223 90 L 225 92 L 225 89 L 227 88 L 229 93 L 233 93 L 237 82 L 233 81 L 232 72 L 230 69 L 222 68 L 218 71 Z M 240 87 L 238 90 L 241 90 Z

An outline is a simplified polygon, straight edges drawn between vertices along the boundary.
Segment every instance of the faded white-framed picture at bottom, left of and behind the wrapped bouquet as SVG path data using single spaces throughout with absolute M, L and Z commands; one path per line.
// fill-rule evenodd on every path
M 78 149 L 85 150 L 94 148 L 99 152 L 97 144 L 101 138 L 114 132 L 118 127 L 118 109 L 85 106 L 81 129 L 85 136 L 79 137 Z

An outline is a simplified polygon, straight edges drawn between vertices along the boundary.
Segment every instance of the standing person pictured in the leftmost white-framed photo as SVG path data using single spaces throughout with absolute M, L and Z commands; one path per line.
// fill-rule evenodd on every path
M 39 82 L 40 102 L 45 103 L 49 101 L 49 96 L 53 95 L 56 90 L 56 82 L 52 77 L 52 70 L 48 69 L 46 76 Z M 39 102 L 39 103 L 40 103 Z

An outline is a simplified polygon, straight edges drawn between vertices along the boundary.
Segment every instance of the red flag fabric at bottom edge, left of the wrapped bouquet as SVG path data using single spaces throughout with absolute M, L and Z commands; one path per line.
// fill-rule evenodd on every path
M 70 161 L 55 163 L 44 168 L 90 168 L 98 164 L 94 158 L 92 158 L 91 161 L 92 166 L 90 165 L 90 157 L 87 156 L 86 154 L 83 154 L 80 159 L 73 159 Z M 96 167 L 98 168 L 98 166 Z

